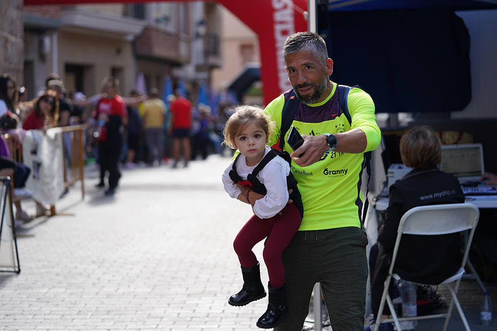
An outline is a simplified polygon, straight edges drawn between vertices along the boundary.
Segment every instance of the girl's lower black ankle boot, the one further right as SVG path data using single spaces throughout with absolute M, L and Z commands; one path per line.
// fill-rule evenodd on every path
M 267 310 L 257 320 L 256 326 L 261 329 L 272 329 L 288 316 L 288 306 L 286 305 L 285 284 L 280 287 L 271 288 L 267 283 L 269 290 L 269 304 Z

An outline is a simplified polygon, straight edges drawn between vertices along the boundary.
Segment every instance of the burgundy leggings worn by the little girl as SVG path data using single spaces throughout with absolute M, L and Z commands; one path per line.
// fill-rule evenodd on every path
M 267 237 L 262 256 L 272 288 L 283 286 L 285 283 L 285 267 L 281 255 L 302 222 L 302 216 L 293 203 L 287 204 L 281 212 L 282 215 L 271 218 L 259 218 L 253 215 L 233 243 L 240 264 L 243 267 L 251 267 L 257 264 L 252 248 Z

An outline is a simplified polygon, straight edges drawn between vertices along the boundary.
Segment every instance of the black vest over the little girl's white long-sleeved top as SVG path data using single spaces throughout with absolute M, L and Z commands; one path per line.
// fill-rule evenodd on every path
M 236 164 L 238 157 L 240 154 L 237 155 L 235 161 L 233 162 L 233 169 L 230 171 L 230 178 L 235 184 L 241 184 L 244 186 L 250 186 L 252 191 L 261 195 L 266 195 L 267 190 L 262 184 L 257 177 L 257 174 L 259 171 L 262 170 L 266 166 L 266 164 L 271 161 L 274 157 L 276 156 L 281 156 L 285 161 L 292 165 L 292 159 L 290 157 L 290 154 L 288 152 L 280 152 L 279 150 L 276 150 L 274 148 L 271 148 L 271 150 L 260 160 L 259 164 L 253 169 L 251 174 L 248 174 L 247 176 L 247 181 L 242 181 L 242 178 L 238 175 L 237 169 L 236 169 Z M 292 189 L 292 193 L 290 194 L 290 199 L 293 200 L 293 204 L 299 209 L 300 215 L 304 217 L 304 204 L 302 203 L 302 196 L 300 195 L 299 189 L 297 188 L 297 180 L 293 177 L 292 172 L 286 176 L 286 185 L 288 189 Z

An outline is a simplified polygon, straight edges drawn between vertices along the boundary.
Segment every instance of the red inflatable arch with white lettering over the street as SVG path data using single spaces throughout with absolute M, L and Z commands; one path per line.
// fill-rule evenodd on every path
M 152 1 L 24 0 L 24 4 L 136 3 Z M 281 56 L 281 50 L 287 36 L 294 32 L 307 31 L 307 21 L 303 14 L 304 10 L 307 10 L 307 0 L 217 0 L 217 2 L 224 5 L 257 34 L 261 62 L 260 80 L 262 81 L 264 103 L 269 103 L 281 92 L 291 88 L 285 72 L 285 63 Z

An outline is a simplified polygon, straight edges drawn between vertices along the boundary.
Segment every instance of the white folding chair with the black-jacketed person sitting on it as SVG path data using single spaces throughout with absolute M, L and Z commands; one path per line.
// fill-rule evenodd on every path
M 402 331 L 400 321 L 413 321 L 413 320 L 424 320 L 433 318 L 445 318 L 445 324 L 443 326 L 443 331 L 447 330 L 449 324 L 450 316 L 452 314 L 452 309 L 454 304 L 457 307 L 461 320 L 467 331 L 470 331 L 468 321 L 464 316 L 459 300 L 457 300 L 457 291 L 459 289 L 459 283 L 461 282 L 461 277 L 464 273 L 464 266 L 466 265 L 466 260 L 468 258 L 468 252 L 471 246 L 471 241 L 473 240 L 473 235 L 475 233 L 476 225 L 478 223 L 478 218 L 480 217 L 480 211 L 478 208 L 471 203 L 452 203 L 452 204 L 436 204 L 429 206 L 420 206 L 409 209 L 401 218 L 399 223 L 399 229 L 397 231 L 397 240 L 395 241 L 394 253 L 392 256 L 392 262 L 390 264 L 390 269 L 388 271 L 388 277 L 385 280 L 385 288 L 383 289 L 383 295 L 381 297 L 380 308 L 378 310 L 378 316 L 376 318 L 376 330 L 381 323 L 391 323 L 394 322 L 397 330 Z M 468 240 L 465 242 L 464 255 L 461 267 L 449 278 L 445 279 L 438 285 L 445 285 L 452 296 L 452 300 L 449 305 L 448 312 L 445 314 L 434 314 L 427 316 L 416 316 L 416 317 L 404 317 L 398 318 L 395 313 L 394 305 L 392 299 L 388 293 L 388 288 L 390 286 L 390 281 L 392 277 L 395 279 L 400 279 L 400 276 L 393 273 L 395 266 L 395 261 L 397 258 L 397 252 L 399 250 L 399 244 L 403 234 L 411 235 L 442 235 L 448 233 L 462 232 L 466 230 L 471 230 L 468 236 Z M 429 257 L 427 257 L 429 259 Z M 405 279 L 409 281 L 409 279 Z M 454 288 L 450 286 L 450 283 L 456 282 Z M 383 308 L 385 306 L 385 301 L 390 308 L 390 313 L 392 314 L 392 319 L 381 319 L 383 313 Z

